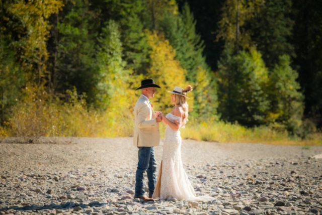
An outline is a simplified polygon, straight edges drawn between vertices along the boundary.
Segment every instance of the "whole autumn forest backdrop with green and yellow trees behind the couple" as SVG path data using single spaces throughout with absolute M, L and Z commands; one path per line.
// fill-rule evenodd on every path
M 183 138 L 322 144 L 318 0 L 3 0 L 0 10 L 0 141 L 129 137 L 135 89 L 152 78 L 164 113 L 167 91 L 193 86 Z

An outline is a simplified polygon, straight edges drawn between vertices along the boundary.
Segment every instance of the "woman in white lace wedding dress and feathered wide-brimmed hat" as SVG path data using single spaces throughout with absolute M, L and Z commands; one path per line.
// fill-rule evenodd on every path
M 189 85 L 185 89 L 175 87 L 171 92 L 171 102 L 175 107 L 170 114 L 165 117 L 162 113 L 163 122 L 167 125 L 165 132 L 165 143 L 160 165 L 159 176 L 156 182 L 152 198 L 170 200 L 215 200 L 210 196 L 196 196 L 196 193 L 183 169 L 181 160 L 181 136 L 180 128 L 184 128 L 188 122 L 188 103 L 186 93 L 191 91 Z

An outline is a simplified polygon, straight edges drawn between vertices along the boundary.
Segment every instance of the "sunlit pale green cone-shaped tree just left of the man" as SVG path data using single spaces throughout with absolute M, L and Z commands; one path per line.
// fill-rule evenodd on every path
M 118 116 L 130 116 L 128 111 L 134 103 L 135 96 L 128 84 L 131 71 L 125 69 L 126 62 L 122 59 L 122 43 L 118 27 L 115 21 L 110 20 L 98 38 L 99 81 L 96 106 Z M 116 116 L 111 115 L 111 118 L 114 117 Z

